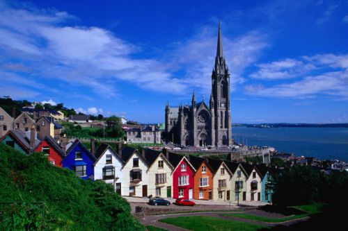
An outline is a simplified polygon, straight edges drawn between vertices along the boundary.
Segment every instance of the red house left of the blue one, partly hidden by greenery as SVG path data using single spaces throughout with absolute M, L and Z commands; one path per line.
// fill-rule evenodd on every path
M 59 146 L 59 144 L 51 137 L 46 136 L 42 141 L 36 146 L 35 151 L 46 153 L 49 162 L 54 166 L 62 167 L 62 161 L 65 157 L 65 151 Z

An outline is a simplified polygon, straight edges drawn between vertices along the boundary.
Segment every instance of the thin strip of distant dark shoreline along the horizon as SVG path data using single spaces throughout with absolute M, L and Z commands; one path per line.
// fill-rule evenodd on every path
M 348 123 L 232 123 L 247 128 L 348 128 Z

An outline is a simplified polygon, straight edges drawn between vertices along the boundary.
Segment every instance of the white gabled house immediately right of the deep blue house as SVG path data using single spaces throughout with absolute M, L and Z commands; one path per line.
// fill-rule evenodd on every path
M 100 144 L 95 151 L 95 157 L 97 160 L 94 164 L 94 179 L 104 180 L 106 183 L 113 185 L 113 188 L 118 194 L 122 194 L 121 191 L 121 179 L 122 179 L 122 166 L 124 162 L 113 151 L 108 144 Z

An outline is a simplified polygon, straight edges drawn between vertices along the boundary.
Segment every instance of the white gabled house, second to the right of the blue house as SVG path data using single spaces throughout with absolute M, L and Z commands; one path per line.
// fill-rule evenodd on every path
M 122 148 L 122 196 L 148 196 L 148 163 L 135 148 Z

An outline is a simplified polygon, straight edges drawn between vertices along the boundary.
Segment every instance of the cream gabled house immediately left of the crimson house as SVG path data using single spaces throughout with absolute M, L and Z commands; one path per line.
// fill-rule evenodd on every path
M 144 149 L 143 157 L 148 162 L 149 178 L 148 195 L 171 198 L 173 197 L 174 167 L 164 157 L 163 153 L 152 149 Z

